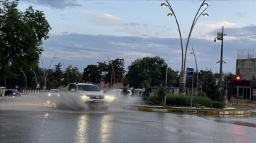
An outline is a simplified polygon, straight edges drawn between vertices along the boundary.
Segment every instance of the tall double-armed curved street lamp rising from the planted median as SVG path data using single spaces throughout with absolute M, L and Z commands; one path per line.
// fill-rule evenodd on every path
M 185 69 L 186 69 L 186 53 L 187 53 L 187 50 L 188 50 L 188 42 L 190 40 L 190 37 L 191 37 L 191 33 L 192 33 L 192 30 L 196 24 L 196 21 L 198 21 L 198 18 L 200 16 L 209 16 L 208 13 L 203 13 L 204 11 L 206 11 L 206 9 L 208 8 L 208 4 L 205 3 L 206 0 L 203 0 L 202 4 L 200 5 L 200 7 L 198 8 L 198 11 L 196 13 L 196 16 L 194 17 L 193 19 L 193 23 L 191 25 L 191 29 L 189 31 L 189 34 L 188 34 L 188 40 L 186 42 L 186 50 L 185 50 L 185 55 L 183 55 L 183 44 L 182 44 L 182 38 L 181 38 L 181 30 L 179 28 L 179 25 L 178 25 L 178 21 L 177 21 L 177 18 L 176 18 L 176 15 L 174 13 L 174 10 L 173 8 L 171 8 L 171 4 L 169 4 L 169 1 L 166 0 L 166 3 L 162 3 L 161 6 L 167 6 L 171 13 L 168 13 L 167 16 L 174 16 L 175 20 L 176 20 L 176 24 L 178 26 L 178 33 L 180 35 L 180 40 L 181 40 L 181 55 L 182 55 L 182 61 L 181 61 L 181 76 L 180 76 L 180 81 L 179 81 L 179 86 L 180 86 L 180 93 L 185 93 L 186 94 L 186 72 L 185 72 Z M 201 10 L 201 8 L 205 6 L 206 8 L 198 15 L 199 11 Z

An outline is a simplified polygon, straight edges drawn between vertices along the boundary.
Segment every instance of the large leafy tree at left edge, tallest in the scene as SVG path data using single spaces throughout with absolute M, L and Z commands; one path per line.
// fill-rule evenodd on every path
M 50 25 L 43 12 L 32 6 L 18 11 L 18 0 L 0 1 L 0 5 L 0 75 L 4 79 L 11 76 L 10 64 L 25 71 L 36 67 Z

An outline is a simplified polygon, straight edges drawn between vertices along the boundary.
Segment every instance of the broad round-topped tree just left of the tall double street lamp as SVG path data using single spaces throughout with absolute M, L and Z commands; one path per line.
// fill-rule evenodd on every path
M 126 74 L 126 78 L 129 81 L 129 86 L 139 88 L 145 80 L 149 82 L 149 86 L 164 85 L 165 77 L 161 76 L 161 67 L 166 65 L 167 64 L 164 62 L 164 59 L 158 56 L 136 59 L 128 67 L 128 72 Z M 169 85 L 174 83 L 172 79 L 176 79 L 176 76 L 176 72 L 169 68 L 167 74 Z

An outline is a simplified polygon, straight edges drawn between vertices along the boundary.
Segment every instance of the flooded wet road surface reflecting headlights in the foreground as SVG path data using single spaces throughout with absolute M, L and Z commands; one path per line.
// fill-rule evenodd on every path
M 255 142 L 255 115 L 213 117 L 123 110 L 76 110 L 44 98 L 0 98 L 0 142 Z M 129 102 L 131 103 L 131 102 Z

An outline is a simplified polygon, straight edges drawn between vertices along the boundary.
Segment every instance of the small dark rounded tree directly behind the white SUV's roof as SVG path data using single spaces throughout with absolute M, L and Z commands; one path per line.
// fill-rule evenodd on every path
M 82 74 L 85 82 L 100 83 L 100 70 L 97 65 L 87 65 Z

